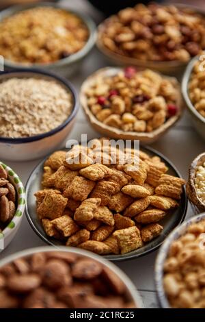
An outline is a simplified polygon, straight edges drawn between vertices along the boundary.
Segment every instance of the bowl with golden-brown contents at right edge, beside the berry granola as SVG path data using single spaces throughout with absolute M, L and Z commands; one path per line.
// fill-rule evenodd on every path
M 182 94 L 191 114 L 193 125 L 205 139 L 205 105 L 204 105 L 204 55 L 196 56 L 188 64 L 182 79 Z

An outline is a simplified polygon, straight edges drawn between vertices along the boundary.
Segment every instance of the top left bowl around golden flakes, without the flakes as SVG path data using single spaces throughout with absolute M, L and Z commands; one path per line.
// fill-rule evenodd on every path
M 85 14 L 81 14 L 74 10 L 68 10 L 68 8 L 64 8 L 62 5 L 59 5 L 57 3 L 49 3 L 49 2 L 48 3 L 38 2 L 38 3 L 27 4 L 27 5 L 16 5 L 11 8 L 5 9 L 0 12 L 0 22 L 3 20 L 3 18 L 12 16 L 23 10 L 38 8 L 38 7 L 52 7 L 52 8 L 64 9 L 81 18 L 81 20 L 83 21 L 83 23 L 85 23 L 85 25 L 87 26 L 87 29 L 90 32 L 90 36 L 87 40 L 87 43 L 81 50 L 77 51 L 77 53 L 74 53 L 67 58 L 57 60 L 57 62 L 53 62 L 50 64 L 25 65 L 25 64 L 12 62 L 10 60 L 5 59 L 4 60 L 5 70 L 18 71 L 20 69 L 21 71 L 22 70 L 27 71 L 28 69 L 44 69 L 46 71 L 53 71 L 53 72 L 59 73 L 60 75 L 68 77 L 69 75 L 72 75 L 77 69 L 81 67 L 81 63 L 83 62 L 84 58 L 87 56 L 88 53 L 90 53 L 90 51 L 94 47 L 94 44 L 96 42 L 96 25 L 94 21 L 92 21 L 92 19 Z

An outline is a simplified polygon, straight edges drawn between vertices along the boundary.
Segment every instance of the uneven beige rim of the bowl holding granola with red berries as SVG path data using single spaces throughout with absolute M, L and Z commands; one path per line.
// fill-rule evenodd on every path
M 143 71 L 145 69 L 139 70 L 139 72 Z M 155 138 L 159 138 L 161 135 L 165 134 L 172 126 L 176 124 L 176 122 L 180 119 L 182 116 L 183 110 L 184 110 L 184 101 L 183 97 L 180 92 L 180 83 L 176 79 L 176 77 L 163 75 L 159 72 L 155 72 L 159 75 L 161 75 L 165 79 L 174 79 L 176 81 L 176 88 L 178 90 L 178 105 L 179 110 L 178 113 L 174 116 L 171 116 L 163 125 L 161 125 L 159 128 L 154 129 L 152 132 L 134 132 L 134 131 L 128 131 L 124 132 L 122 129 L 118 129 L 115 127 L 112 127 L 110 125 L 105 125 L 105 123 L 102 123 L 101 121 L 98 121 L 96 119 L 96 116 L 91 112 L 90 108 L 87 106 L 87 99 L 85 96 L 85 88 L 89 87 L 89 83 L 92 83 L 92 80 L 98 77 L 98 75 L 114 75 L 118 71 L 123 71 L 123 67 L 113 67 L 113 66 L 107 66 L 102 67 L 101 69 L 98 69 L 91 75 L 89 75 L 84 81 L 83 84 L 81 84 L 80 94 L 79 94 L 79 101 L 81 106 L 83 107 L 83 111 L 85 112 L 86 116 L 88 117 L 90 123 L 92 125 L 95 125 L 96 127 L 99 127 L 101 131 L 109 131 L 111 134 L 115 135 L 115 137 L 124 138 L 132 137 L 133 139 L 139 139 L 139 140 L 154 140 Z

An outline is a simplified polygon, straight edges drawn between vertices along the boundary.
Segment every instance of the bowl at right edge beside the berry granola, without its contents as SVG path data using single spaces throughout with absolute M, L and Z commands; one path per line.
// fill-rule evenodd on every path
M 197 112 L 197 110 L 191 103 L 191 99 L 189 98 L 189 90 L 188 90 L 189 80 L 190 80 L 193 66 L 196 60 L 199 60 L 199 56 L 196 56 L 191 60 L 191 62 L 189 62 L 187 69 L 184 72 L 184 76 L 182 79 L 182 95 L 184 97 L 184 101 L 187 105 L 187 108 L 189 109 L 189 113 L 191 114 L 191 119 L 193 121 L 193 125 L 196 131 L 205 140 L 205 118 L 199 112 Z

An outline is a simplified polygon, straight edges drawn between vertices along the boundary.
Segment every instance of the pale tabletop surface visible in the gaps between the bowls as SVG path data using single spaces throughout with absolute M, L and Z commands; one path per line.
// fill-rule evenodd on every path
M 75 0 L 75 1 L 61 1 L 66 3 L 71 8 L 77 8 L 78 10 L 83 10 L 83 12 L 91 13 L 95 18 L 96 22 L 100 20 L 100 16 L 92 10 L 90 5 L 87 5 L 86 1 Z M 90 75 L 93 71 L 96 71 L 102 66 L 107 66 L 107 61 L 102 57 L 96 49 L 89 55 L 83 69 L 75 77 L 70 78 L 71 82 L 76 86 L 77 90 L 81 86 L 83 79 Z M 77 123 L 74 125 L 72 132 L 70 133 L 70 138 L 75 138 L 77 140 L 81 139 L 81 133 L 87 134 L 88 139 L 99 136 L 90 125 L 87 123 L 83 111 L 80 110 L 77 116 Z M 204 142 L 195 133 L 191 120 L 187 112 L 184 113 L 182 119 L 177 123 L 177 125 L 169 131 L 161 140 L 152 145 L 155 149 L 158 149 L 167 158 L 169 158 L 178 168 L 182 176 L 187 178 L 188 166 L 197 156 L 197 154 L 204 151 Z M 33 170 L 33 167 L 38 164 L 40 160 L 33 162 L 7 162 L 23 179 L 23 183 L 27 182 L 29 174 Z M 187 212 L 187 216 L 191 215 L 191 210 Z M 44 245 L 42 240 L 36 236 L 36 234 L 31 230 L 27 219 L 23 219 L 23 223 L 16 234 L 16 237 L 3 253 L 0 254 L 0 258 L 8 256 L 10 253 L 15 253 L 29 247 L 36 247 Z M 156 258 L 156 252 L 138 258 L 136 260 L 131 260 L 127 262 L 120 262 L 118 266 L 133 280 L 135 286 L 141 290 L 141 295 L 145 307 L 156 308 L 158 306 L 156 301 L 156 296 L 154 293 L 154 260 Z

